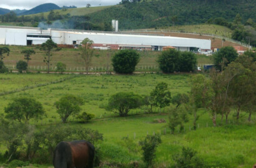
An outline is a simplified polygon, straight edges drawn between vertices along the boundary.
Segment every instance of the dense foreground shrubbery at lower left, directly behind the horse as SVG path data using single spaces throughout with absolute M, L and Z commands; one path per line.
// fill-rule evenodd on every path
M 5 161 L 14 159 L 51 164 L 55 147 L 61 141 L 87 139 L 95 143 L 102 141 L 102 134 L 89 128 L 75 128 L 64 124 L 36 129 L 28 123 L 19 123 L 0 118 L 0 142 L 6 146 Z

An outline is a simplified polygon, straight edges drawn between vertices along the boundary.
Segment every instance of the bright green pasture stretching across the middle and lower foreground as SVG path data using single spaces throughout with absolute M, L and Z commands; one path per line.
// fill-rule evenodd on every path
M 46 110 L 47 116 L 42 121 L 31 121 L 31 124 L 42 128 L 48 124 L 60 123 L 54 102 L 65 94 L 73 94 L 83 98 L 86 103 L 82 111 L 96 114 L 96 118 L 89 123 L 77 123 L 71 117 L 68 123 L 71 127 L 92 128 L 99 130 L 104 136 L 104 141 L 99 144 L 102 150 L 112 149 L 105 153 L 104 161 L 126 162 L 139 161 L 142 163 L 138 142 L 146 134 L 162 134 L 162 144 L 157 149 L 155 158 L 156 167 L 169 167 L 173 161 L 173 154 L 178 154 L 182 146 L 191 147 L 204 158 L 209 167 L 252 167 L 256 158 L 256 116 L 252 116 L 252 123 L 247 123 L 247 114 L 241 114 L 240 124 L 235 124 L 235 119 L 230 114 L 229 124 L 221 125 L 220 116 L 217 117 L 218 126 L 214 128 L 209 113 L 199 110 L 199 128 L 192 129 L 192 116 L 189 123 L 185 124 L 185 133 L 170 134 L 168 127 L 168 111 L 145 114 L 143 109 L 132 110 L 128 117 L 119 118 L 117 114 L 104 110 L 108 98 L 118 91 L 132 91 L 139 95 L 149 95 L 150 91 L 159 82 L 169 84 L 172 96 L 177 93 L 190 91 L 190 75 L 72 75 L 70 79 L 60 83 L 50 83 L 60 78 L 69 78 L 70 75 L 44 75 L 44 74 L 0 74 L 0 88 L 14 90 L 23 86 L 32 86 L 37 83 L 49 83 L 46 86 L 36 86 L 24 91 L 17 91 L 9 95 L 0 96 L 0 113 L 13 98 L 30 96 L 40 101 Z M 157 108 L 153 108 L 157 111 Z M 165 119 L 167 123 L 156 123 L 155 119 Z M 166 134 L 164 135 L 164 130 Z M 134 139 L 135 133 L 135 139 Z M 129 136 L 129 141 L 122 139 Z M 1 146 L 4 152 L 4 146 Z M 36 166 L 37 167 L 37 166 Z M 48 167 L 48 166 L 45 166 Z

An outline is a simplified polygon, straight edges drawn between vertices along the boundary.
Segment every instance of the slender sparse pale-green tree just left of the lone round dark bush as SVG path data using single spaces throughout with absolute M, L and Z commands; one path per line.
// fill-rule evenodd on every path
M 81 46 L 79 47 L 79 50 L 82 52 L 81 58 L 84 60 L 84 65 L 86 67 L 86 73 L 89 72 L 89 67 L 92 62 L 92 57 L 94 53 L 94 49 L 92 49 L 92 44 L 94 42 L 88 38 L 82 40 Z

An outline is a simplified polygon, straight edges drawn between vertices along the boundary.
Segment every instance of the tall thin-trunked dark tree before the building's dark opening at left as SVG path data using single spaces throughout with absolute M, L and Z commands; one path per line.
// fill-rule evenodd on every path
M 47 40 L 44 42 L 41 47 L 41 50 L 44 50 L 46 52 L 46 57 L 44 57 L 44 62 L 46 62 L 47 65 L 47 73 L 50 72 L 50 65 L 51 65 L 51 59 L 52 51 L 59 50 L 57 49 L 57 44 L 52 41 L 52 39 Z

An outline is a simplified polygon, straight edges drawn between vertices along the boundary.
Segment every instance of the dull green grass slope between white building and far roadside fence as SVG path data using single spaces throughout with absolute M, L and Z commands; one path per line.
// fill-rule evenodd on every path
M 1 45 L 0 45 L 1 47 Z M 4 58 L 4 63 L 7 67 L 12 68 L 16 66 L 16 62 L 19 60 L 24 60 L 24 55 L 21 54 L 21 50 L 24 49 L 34 49 L 36 54 L 31 55 L 32 60 L 29 60 L 29 69 L 38 69 L 45 70 L 46 63 L 43 62 L 45 53 L 36 47 L 24 47 L 24 46 L 9 46 L 11 50 L 9 56 Z M 113 56 L 118 50 L 96 50 L 92 58 L 91 67 L 96 68 L 97 70 L 105 70 L 107 65 L 111 65 L 111 58 L 107 58 L 107 55 Z M 137 67 L 142 70 L 142 67 L 145 69 L 157 67 L 157 57 L 161 54 L 160 52 L 149 52 L 149 51 L 140 51 L 140 62 Z M 51 58 L 51 67 L 56 67 L 57 62 L 62 62 L 67 65 L 67 70 L 84 70 L 84 63 L 82 61 L 79 50 L 77 49 L 62 49 L 59 52 L 54 52 Z M 205 55 L 197 55 L 198 65 L 212 64 L 210 57 Z M 137 68 L 137 70 L 138 70 Z M 155 68 L 154 68 L 155 70 Z M 156 68 L 158 70 L 158 68 Z

